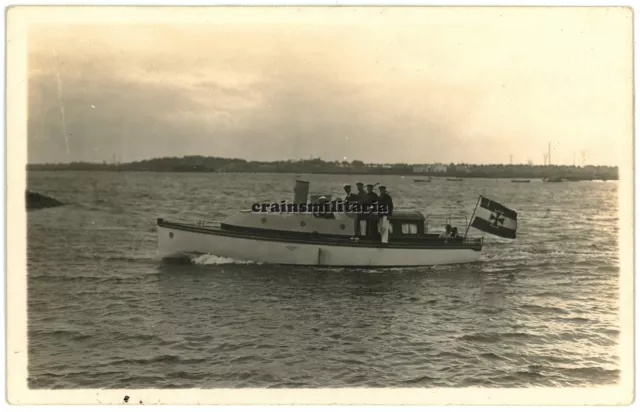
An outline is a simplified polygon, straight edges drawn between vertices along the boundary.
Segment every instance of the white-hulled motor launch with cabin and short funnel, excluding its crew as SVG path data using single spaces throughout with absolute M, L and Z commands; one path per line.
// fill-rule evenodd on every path
M 282 201 L 278 211 L 256 204 L 257 208 L 240 210 L 222 222 L 158 218 L 159 255 L 210 254 L 245 262 L 329 267 L 432 266 L 475 262 L 481 257 L 483 237 L 468 237 L 466 232 L 441 237 L 429 231 L 433 216 L 417 210 L 393 211 L 386 243 L 371 216 L 360 219 L 357 227 L 357 214 L 348 211 L 326 214 L 317 207 L 296 211 L 291 206 L 307 205 L 308 190 L 309 182 L 296 180 L 294 202 L 287 204 L 287 210 Z M 309 203 L 309 209 L 315 204 Z M 496 219 L 496 227 L 504 224 L 504 215 L 501 219 Z M 451 222 L 451 215 L 440 228 L 447 221 Z

